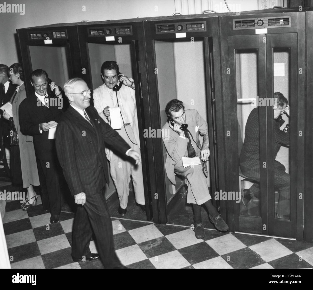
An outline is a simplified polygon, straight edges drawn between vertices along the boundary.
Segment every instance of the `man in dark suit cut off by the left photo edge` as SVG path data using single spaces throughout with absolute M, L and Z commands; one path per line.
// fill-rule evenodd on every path
M 9 80 L 9 68 L 6 64 L 0 64 L 0 107 L 6 103 L 8 103 L 13 96 L 13 93 L 16 90 L 17 85 L 13 85 L 13 83 Z M 1 111 L 1 117 L 2 117 L 2 110 Z M 3 152 L 3 161 L 4 161 L 4 167 L 7 170 L 7 173 L 9 176 L 11 176 L 10 171 L 8 170 L 10 168 L 10 142 L 8 138 L 9 133 L 9 122 L 8 120 L 5 120 L 4 118 L 1 119 L 1 127 L 2 130 L 2 138 L 0 138 L 1 142 L 1 148 L 4 148 Z

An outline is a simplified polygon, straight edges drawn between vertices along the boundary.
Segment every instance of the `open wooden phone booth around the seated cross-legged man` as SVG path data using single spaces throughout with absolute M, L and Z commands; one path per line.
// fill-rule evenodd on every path
M 208 180 L 213 204 L 224 214 L 224 207 L 213 198 L 218 191 L 218 134 L 215 99 L 220 98 L 218 17 L 199 15 L 194 19 L 173 17 L 145 22 L 148 82 L 151 106 L 151 132 L 161 131 L 167 122 L 165 107 L 172 99 L 184 103 L 185 110 L 196 109 L 208 123 L 210 160 Z M 214 65 L 213 65 L 214 63 Z M 217 84 L 217 85 L 216 85 Z M 167 132 L 163 132 L 167 133 Z M 157 180 L 153 202 L 153 218 L 159 223 L 190 226 L 193 212 L 187 200 L 187 180 L 176 175 L 176 184 L 167 178 L 165 163 L 167 151 L 162 134 L 149 136 L 153 144 L 153 156 Z M 202 141 L 200 140 L 200 143 Z M 223 150 L 220 150 L 222 156 Z M 208 215 L 203 210 L 203 222 Z

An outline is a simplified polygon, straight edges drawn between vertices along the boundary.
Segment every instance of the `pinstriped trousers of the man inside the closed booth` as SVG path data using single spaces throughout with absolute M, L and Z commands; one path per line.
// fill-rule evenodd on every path
M 250 187 L 250 192 L 251 195 L 260 197 L 260 165 L 257 164 L 251 168 L 240 168 L 245 176 L 257 181 Z M 285 170 L 283 164 L 274 160 L 274 185 L 276 189 L 280 190 L 276 213 L 287 216 L 290 214 L 290 176 Z

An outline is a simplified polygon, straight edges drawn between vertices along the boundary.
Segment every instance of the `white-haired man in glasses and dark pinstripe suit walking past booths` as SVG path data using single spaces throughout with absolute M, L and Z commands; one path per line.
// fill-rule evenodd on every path
M 70 106 L 57 126 L 56 148 L 65 179 L 78 204 L 73 226 L 73 261 L 93 261 L 100 256 L 105 268 L 123 268 L 114 251 L 112 223 L 103 191 L 109 180 L 104 143 L 132 157 L 136 164 L 141 163 L 140 154 L 90 106 L 90 89 L 81 78 L 68 80 L 64 92 Z M 99 256 L 89 249 L 91 228 Z

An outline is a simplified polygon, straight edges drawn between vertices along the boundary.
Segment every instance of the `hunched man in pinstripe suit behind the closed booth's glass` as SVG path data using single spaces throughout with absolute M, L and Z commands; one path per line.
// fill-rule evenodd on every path
M 290 145 L 289 130 L 280 130 L 280 126 L 285 122 L 281 114 L 289 110 L 288 100 L 282 93 L 274 93 L 277 106 L 274 107 L 274 158 L 281 145 Z M 286 132 L 285 132 L 286 131 Z M 242 173 L 255 180 L 249 190 L 245 190 L 244 198 L 259 198 L 260 194 L 260 156 L 259 156 L 259 109 L 254 108 L 247 120 L 245 129 L 244 144 L 241 149 L 239 166 Z M 280 197 L 276 210 L 276 218 L 289 219 L 290 215 L 290 176 L 285 172 L 285 166 L 274 160 L 274 184 L 280 190 Z

